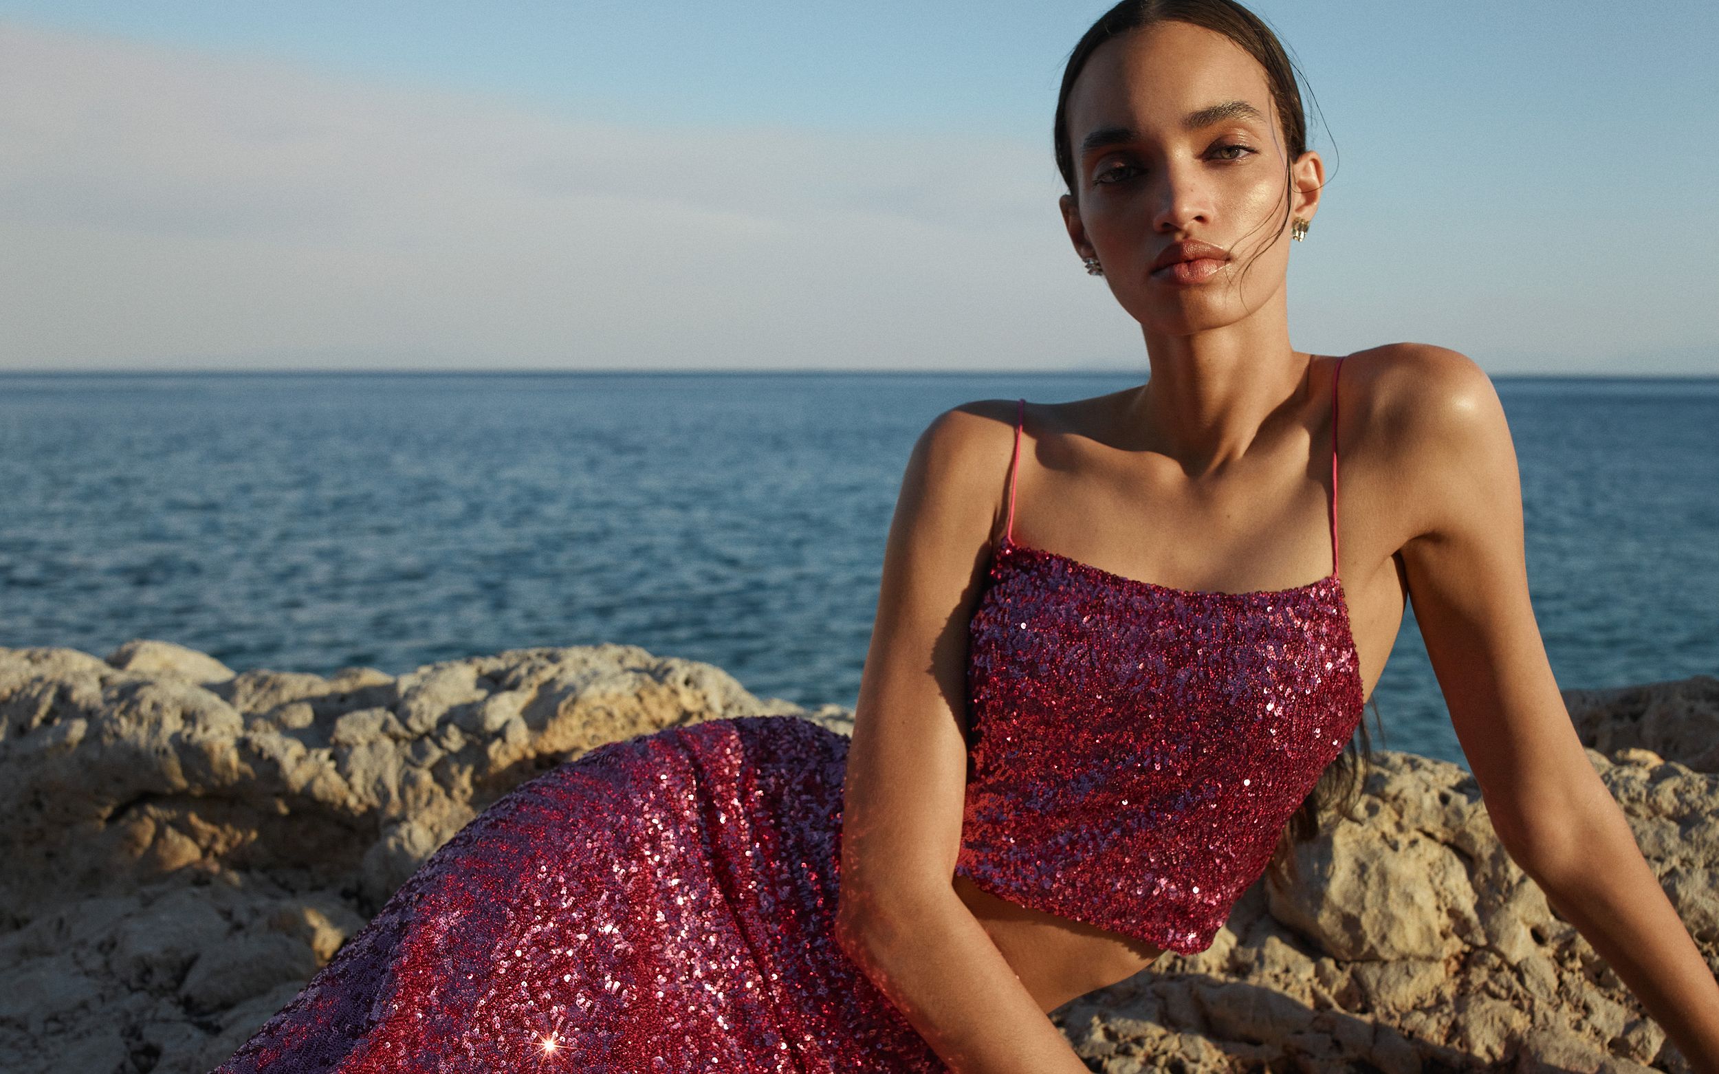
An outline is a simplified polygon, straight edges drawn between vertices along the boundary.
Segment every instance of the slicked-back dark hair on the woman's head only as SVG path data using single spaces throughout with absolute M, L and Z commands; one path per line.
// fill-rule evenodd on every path
M 1057 117 L 1052 139 L 1055 143 L 1057 170 L 1062 172 L 1062 182 L 1067 186 L 1069 194 L 1078 198 L 1074 150 L 1069 144 L 1067 129 L 1069 93 L 1074 89 L 1074 81 L 1100 45 L 1155 22 L 1188 22 L 1190 26 L 1220 33 L 1258 60 L 1260 67 L 1265 69 L 1267 84 L 1272 88 L 1272 101 L 1277 107 L 1277 125 L 1284 132 L 1284 177 L 1289 179 L 1289 168 L 1296 158 L 1306 153 L 1306 112 L 1301 107 L 1301 89 L 1296 82 L 1300 72 L 1265 21 L 1234 0 L 1123 0 L 1098 15 L 1098 21 L 1074 45 L 1074 52 L 1069 53 L 1067 65 L 1062 69 L 1062 89 L 1057 93 Z M 1289 199 L 1286 198 L 1284 217 L 1277 222 L 1277 232 L 1282 232 L 1282 225 L 1288 222 Z M 1253 258 L 1248 258 L 1243 273 L 1251 265 Z

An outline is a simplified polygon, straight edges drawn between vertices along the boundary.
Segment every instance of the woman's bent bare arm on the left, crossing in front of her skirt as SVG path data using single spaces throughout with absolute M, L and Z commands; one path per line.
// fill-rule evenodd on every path
M 1012 435 L 1012 404 L 957 407 L 908 462 L 847 749 L 837 937 L 957 1074 L 1080 1074 L 1086 1065 L 952 887 L 966 629 Z

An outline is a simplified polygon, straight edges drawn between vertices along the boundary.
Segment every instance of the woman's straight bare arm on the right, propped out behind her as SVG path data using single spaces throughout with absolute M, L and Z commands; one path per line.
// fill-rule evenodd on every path
M 1396 380 L 1392 385 L 1391 380 Z M 1516 452 L 1492 381 L 1425 347 L 1380 375 L 1420 534 L 1415 619 L 1511 857 L 1700 1071 L 1719 1071 L 1719 983 L 1581 748 L 1528 601 Z

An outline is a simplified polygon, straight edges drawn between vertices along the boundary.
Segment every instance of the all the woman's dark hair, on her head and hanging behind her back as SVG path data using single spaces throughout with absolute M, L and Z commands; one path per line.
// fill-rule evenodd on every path
M 1067 65 L 1062 70 L 1062 91 L 1057 95 L 1057 117 L 1052 137 L 1055 141 L 1057 168 L 1062 172 L 1062 182 L 1067 184 L 1069 194 L 1076 194 L 1074 151 L 1069 144 L 1067 131 L 1067 103 L 1069 93 L 1074 89 L 1074 81 L 1100 45 L 1155 22 L 1188 22 L 1220 33 L 1258 60 L 1260 67 L 1265 69 L 1272 101 L 1277 107 L 1277 124 L 1284 132 L 1284 175 L 1288 179 L 1291 165 L 1306 151 L 1306 112 L 1301 107 L 1301 89 L 1296 82 L 1300 72 L 1284 52 L 1277 34 L 1258 15 L 1234 0 L 1123 0 L 1123 3 L 1098 15 L 1092 29 L 1074 45 L 1074 52 L 1069 53 Z M 1277 223 L 1279 232 L 1288 223 L 1288 218 L 1289 204 L 1286 199 L 1284 217 Z M 1250 258 L 1248 265 L 1251 263 L 1253 259 Z M 1372 701 L 1372 708 L 1373 722 L 1379 723 L 1377 699 Z M 1380 723 L 1379 727 L 1382 734 L 1384 725 Z M 1355 802 L 1367 780 L 1370 761 L 1372 741 L 1367 732 L 1363 711 L 1356 735 L 1351 735 L 1344 751 L 1325 766 L 1306 799 L 1301 801 L 1289 823 L 1284 825 L 1267 866 L 1274 880 L 1291 882 L 1300 878 L 1294 847 L 1318 835 L 1318 821 L 1324 811 L 1339 811 L 1343 816 L 1356 820 Z

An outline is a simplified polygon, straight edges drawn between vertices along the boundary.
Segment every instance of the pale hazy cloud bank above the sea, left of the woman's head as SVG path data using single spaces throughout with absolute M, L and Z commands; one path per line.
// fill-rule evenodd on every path
M 0 93 L 3 366 L 971 368 L 1138 347 L 1071 268 L 1040 146 L 629 129 L 15 24 Z

